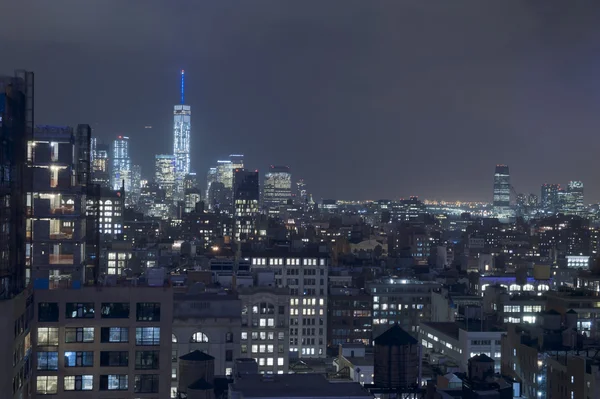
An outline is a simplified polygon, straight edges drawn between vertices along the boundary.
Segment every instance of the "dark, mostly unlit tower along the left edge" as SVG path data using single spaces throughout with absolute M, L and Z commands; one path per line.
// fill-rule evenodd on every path
M 29 397 L 33 293 L 25 215 L 28 142 L 33 134 L 32 72 L 0 75 L 0 392 Z

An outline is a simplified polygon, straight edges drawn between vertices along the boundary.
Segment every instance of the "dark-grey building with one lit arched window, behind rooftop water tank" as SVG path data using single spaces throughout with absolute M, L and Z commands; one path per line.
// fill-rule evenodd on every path
M 225 292 L 199 291 L 195 286 L 188 290 L 173 299 L 174 370 L 179 356 L 199 350 L 215 358 L 214 375 L 231 375 L 240 357 L 241 301 Z M 176 387 L 176 372 L 173 376 Z

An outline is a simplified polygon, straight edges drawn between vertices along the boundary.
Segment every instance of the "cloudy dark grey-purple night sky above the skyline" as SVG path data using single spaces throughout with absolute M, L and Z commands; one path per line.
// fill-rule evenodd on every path
M 506 163 L 518 192 L 599 201 L 599 60 L 597 0 L 0 5 L 0 73 L 35 72 L 37 124 L 129 135 L 148 176 L 185 69 L 202 180 L 243 153 L 315 199 L 491 200 Z

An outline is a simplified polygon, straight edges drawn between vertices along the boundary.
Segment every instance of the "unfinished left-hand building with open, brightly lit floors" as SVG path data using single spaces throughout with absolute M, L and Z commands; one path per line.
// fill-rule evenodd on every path
M 33 182 L 27 234 L 35 288 L 79 286 L 85 281 L 90 134 L 87 125 L 76 131 L 38 126 L 28 143 Z

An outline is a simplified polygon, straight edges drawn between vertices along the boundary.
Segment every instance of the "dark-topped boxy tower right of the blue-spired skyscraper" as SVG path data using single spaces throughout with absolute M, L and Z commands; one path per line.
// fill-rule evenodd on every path
M 258 171 L 235 170 L 233 203 L 234 237 L 236 241 L 251 239 L 256 235 L 256 218 L 259 212 Z

